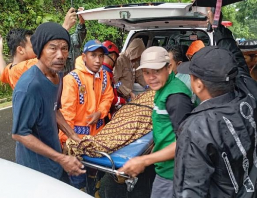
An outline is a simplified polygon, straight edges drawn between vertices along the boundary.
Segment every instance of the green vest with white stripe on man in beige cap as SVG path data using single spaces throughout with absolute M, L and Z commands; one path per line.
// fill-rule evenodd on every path
M 154 138 L 154 152 L 161 150 L 173 142 L 176 142 L 175 133 L 172 122 L 166 110 L 166 101 L 171 94 L 182 93 L 191 98 L 191 91 L 188 87 L 175 78 L 172 72 L 166 84 L 156 92 L 154 98 L 154 110 L 152 114 L 153 119 L 153 138 Z M 182 104 L 181 104 L 182 105 Z M 155 172 L 162 178 L 173 179 L 174 160 L 166 162 L 155 163 Z

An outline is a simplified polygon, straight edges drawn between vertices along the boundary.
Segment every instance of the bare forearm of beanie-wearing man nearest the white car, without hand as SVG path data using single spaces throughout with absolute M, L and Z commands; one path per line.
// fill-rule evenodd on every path
M 33 135 L 28 135 L 28 136 L 12 135 L 12 138 L 16 141 L 21 142 L 30 150 L 42 156 L 45 156 L 53 160 L 54 162 L 59 163 L 63 158 L 62 153 L 57 152 L 56 150 L 47 146 L 46 144 L 44 144 L 42 141 L 40 141 L 38 138 L 36 138 Z

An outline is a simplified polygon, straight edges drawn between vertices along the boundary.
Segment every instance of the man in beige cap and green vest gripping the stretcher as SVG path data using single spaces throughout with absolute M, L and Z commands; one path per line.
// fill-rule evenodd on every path
M 138 70 L 142 70 L 146 84 L 156 91 L 154 98 L 154 149 L 149 155 L 128 161 L 119 171 L 136 177 L 145 167 L 155 165 L 156 178 L 151 198 L 171 197 L 173 193 L 176 131 L 180 120 L 193 109 L 191 92 L 170 70 L 169 53 L 161 47 L 146 49 Z

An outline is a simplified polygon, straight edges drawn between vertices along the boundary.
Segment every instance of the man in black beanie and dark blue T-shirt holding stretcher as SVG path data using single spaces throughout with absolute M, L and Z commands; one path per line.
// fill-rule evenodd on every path
M 44 23 L 31 36 L 31 43 L 39 61 L 22 75 L 13 92 L 16 162 L 56 179 L 61 179 L 63 169 L 71 175 L 85 173 L 75 157 L 62 154 L 58 138 L 57 126 L 80 141 L 59 111 L 69 33 L 59 24 Z

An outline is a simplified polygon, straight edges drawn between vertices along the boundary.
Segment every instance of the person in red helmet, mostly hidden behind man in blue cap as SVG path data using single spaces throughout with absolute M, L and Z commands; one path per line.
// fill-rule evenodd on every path
M 118 96 L 118 92 L 113 81 L 113 69 L 115 67 L 117 58 L 120 56 L 120 53 L 118 47 L 112 41 L 104 41 L 103 46 L 105 46 L 108 50 L 108 54 L 104 56 L 103 70 L 108 73 L 113 87 L 114 99 L 110 110 L 111 115 L 113 115 L 121 107 L 121 105 L 126 103 L 124 98 Z

